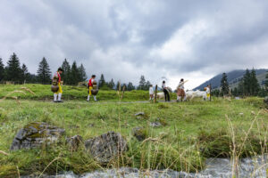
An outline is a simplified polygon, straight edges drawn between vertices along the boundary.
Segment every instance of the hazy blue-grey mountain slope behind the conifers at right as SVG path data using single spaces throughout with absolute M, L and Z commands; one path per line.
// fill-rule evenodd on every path
M 245 71 L 246 70 L 244 69 L 237 69 L 226 73 L 231 88 L 239 85 L 239 81 L 244 76 Z M 260 85 L 264 85 L 264 78 L 266 75 L 266 71 L 268 71 L 268 69 L 255 69 L 256 77 Z M 222 74 L 218 74 L 217 76 L 212 77 L 211 79 L 205 81 L 205 83 L 198 85 L 194 90 L 202 90 L 206 85 L 209 84 L 211 84 L 213 88 L 218 88 L 221 86 L 221 79 Z

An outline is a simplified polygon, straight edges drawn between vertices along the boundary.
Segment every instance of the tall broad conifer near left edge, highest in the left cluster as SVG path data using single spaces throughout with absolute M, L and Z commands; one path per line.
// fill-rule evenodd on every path
M 4 79 L 21 83 L 22 80 L 22 70 L 20 60 L 15 53 L 11 55 L 10 60 L 7 61 L 7 66 L 5 67 Z

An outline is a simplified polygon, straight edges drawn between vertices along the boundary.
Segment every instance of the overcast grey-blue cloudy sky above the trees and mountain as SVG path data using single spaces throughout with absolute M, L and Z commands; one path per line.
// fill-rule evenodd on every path
M 267 0 L 0 0 L 0 57 L 31 73 L 45 56 L 91 74 L 193 88 L 232 69 L 268 69 Z

